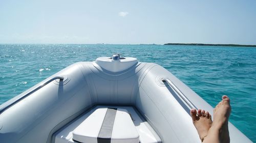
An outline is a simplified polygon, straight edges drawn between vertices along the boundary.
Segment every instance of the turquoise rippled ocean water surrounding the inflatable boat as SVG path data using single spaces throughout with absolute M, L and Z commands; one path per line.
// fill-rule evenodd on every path
M 231 99 L 230 122 L 256 142 L 256 48 L 167 45 L 0 45 L 0 104 L 80 61 L 122 53 L 157 63 L 215 106 Z

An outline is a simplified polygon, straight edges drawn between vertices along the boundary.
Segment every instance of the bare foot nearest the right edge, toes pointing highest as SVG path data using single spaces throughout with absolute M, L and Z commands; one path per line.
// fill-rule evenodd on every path
M 222 101 L 214 109 L 214 122 L 212 123 L 212 128 L 220 132 L 220 142 L 230 142 L 228 132 L 228 118 L 230 112 L 230 100 L 226 95 L 223 95 Z

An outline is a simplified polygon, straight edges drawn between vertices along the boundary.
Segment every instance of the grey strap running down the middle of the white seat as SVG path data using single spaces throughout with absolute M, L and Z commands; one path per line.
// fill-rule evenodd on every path
M 111 143 L 112 130 L 116 118 L 117 108 L 108 108 L 101 125 L 97 141 L 98 143 Z

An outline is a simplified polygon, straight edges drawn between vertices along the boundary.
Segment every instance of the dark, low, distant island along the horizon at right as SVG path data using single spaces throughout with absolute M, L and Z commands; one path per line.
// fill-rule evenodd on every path
M 229 47 L 256 47 L 256 45 L 239 45 L 239 44 L 198 44 L 198 43 L 167 43 L 164 45 L 186 45 L 186 46 L 229 46 Z

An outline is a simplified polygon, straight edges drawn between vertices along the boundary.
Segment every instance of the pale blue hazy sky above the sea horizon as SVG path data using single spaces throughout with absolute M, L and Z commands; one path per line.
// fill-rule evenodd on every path
M 256 1 L 0 0 L 0 43 L 256 45 Z

